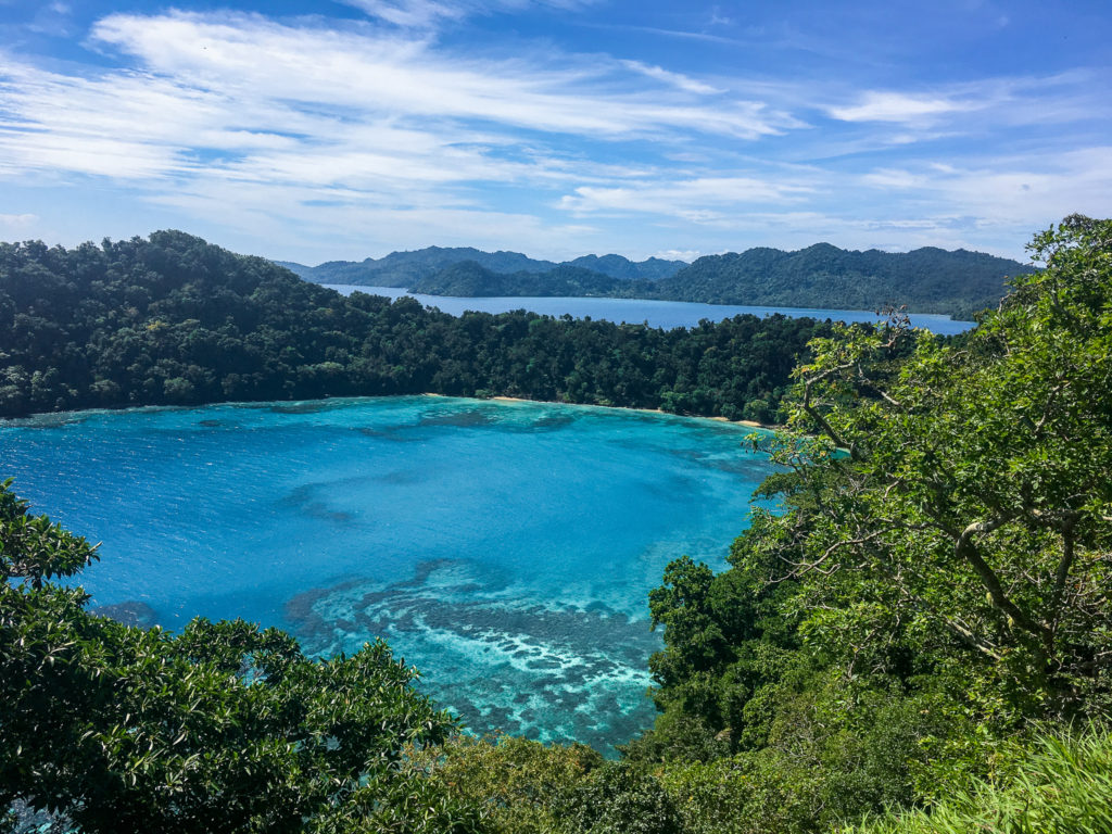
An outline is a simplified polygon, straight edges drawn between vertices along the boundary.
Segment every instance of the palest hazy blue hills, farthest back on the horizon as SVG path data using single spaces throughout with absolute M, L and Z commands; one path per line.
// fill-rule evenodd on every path
M 320 264 L 316 267 L 307 267 L 291 261 L 277 261 L 306 280 L 317 284 L 354 284 L 369 287 L 405 287 L 416 289 L 417 284 L 426 281 L 437 276 L 438 272 L 455 267 L 459 264 L 475 264 L 487 270 L 490 275 L 517 274 L 517 285 L 510 285 L 510 289 L 516 286 L 525 289 L 528 278 L 524 276 L 549 274 L 546 281 L 552 285 L 548 291 L 538 295 L 566 295 L 554 291 L 560 286 L 563 278 L 557 267 L 574 267 L 576 269 L 589 270 L 598 277 L 627 280 L 656 280 L 675 275 L 676 271 L 687 266 L 682 260 L 662 260 L 649 258 L 641 262 L 635 262 L 620 255 L 585 255 L 575 260 L 556 264 L 550 260 L 535 260 L 520 252 L 485 252 L 470 247 L 443 248 L 430 246 L 426 249 L 406 252 L 390 252 L 384 258 L 367 258 L 361 261 L 332 260 Z M 553 270 L 557 270 L 555 274 Z M 428 291 L 428 290 L 423 290 Z M 449 295 L 447 292 L 437 295 Z M 466 294 L 471 295 L 471 294 Z M 496 295 L 493 291 L 476 292 L 474 295 Z M 505 295 L 528 295 L 525 291 L 510 291 Z

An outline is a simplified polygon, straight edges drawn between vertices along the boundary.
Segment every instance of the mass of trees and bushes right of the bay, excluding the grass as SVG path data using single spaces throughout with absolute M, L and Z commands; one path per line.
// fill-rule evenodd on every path
M 679 559 L 653 592 L 663 712 L 628 755 L 687 827 L 934 802 L 1032 723 L 1112 711 L 1112 221 L 1032 251 L 1045 269 L 962 340 L 895 319 L 813 341 L 768 444 L 781 506 L 729 570 Z

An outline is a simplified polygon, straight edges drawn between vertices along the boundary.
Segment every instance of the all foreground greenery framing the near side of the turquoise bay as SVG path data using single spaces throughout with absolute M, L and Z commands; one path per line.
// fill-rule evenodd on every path
M 87 831 L 1112 831 L 1112 220 L 1032 251 L 966 339 L 811 342 L 781 506 L 728 569 L 668 566 L 659 716 L 618 762 L 450 736 L 381 646 L 93 617 L 51 579 L 95 554 L 6 485 L 0 801 Z

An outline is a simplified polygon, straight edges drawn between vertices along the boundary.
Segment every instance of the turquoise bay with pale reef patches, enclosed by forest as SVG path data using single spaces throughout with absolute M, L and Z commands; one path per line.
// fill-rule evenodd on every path
M 747 524 L 752 431 L 447 397 L 81 411 L 0 421 L 0 476 L 101 543 L 106 612 L 381 636 L 471 731 L 613 753 L 653 721 L 649 589 Z

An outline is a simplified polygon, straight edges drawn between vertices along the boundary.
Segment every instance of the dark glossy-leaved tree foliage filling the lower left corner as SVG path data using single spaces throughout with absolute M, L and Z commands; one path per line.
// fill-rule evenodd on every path
M 7 484 L 0 507 L 6 525 L 29 518 Z M 38 522 L 3 528 L 9 576 L 72 574 L 88 546 Z M 405 755 L 455 725 L 385 644 L 315 662 L 276 629 L 197 619 L 171 635 L 91 616 L 87 599 L 0 583 L 0 807 L 89 832 L 476 830 Z

